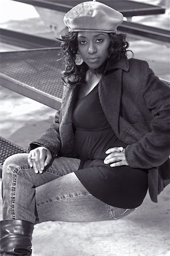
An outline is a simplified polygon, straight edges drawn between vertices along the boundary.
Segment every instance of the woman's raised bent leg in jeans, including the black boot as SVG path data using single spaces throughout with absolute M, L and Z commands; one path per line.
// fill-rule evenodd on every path
M 1 255 L 31 255 L 32 231 L 36 218 L 35 188 L 72 170 L 76 171 L 79 163 L 78 159 L 57 159 L 52 164 L 55 168 L 49 167 L 44 174 L 35 174 L 28 166 L 27 154 L 17 154 L 6 159 L 2 174 Z

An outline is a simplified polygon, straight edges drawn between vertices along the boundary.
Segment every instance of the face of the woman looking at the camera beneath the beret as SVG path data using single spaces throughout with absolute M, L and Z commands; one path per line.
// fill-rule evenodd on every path
M 78 52 L 89 68 L 99 68 L 109 57 L 110 36 L 104 32 L 78 32 Z

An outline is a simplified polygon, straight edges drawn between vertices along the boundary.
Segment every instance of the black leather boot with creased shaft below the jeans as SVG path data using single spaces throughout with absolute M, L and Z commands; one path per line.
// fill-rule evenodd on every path
M 31 256 L 34 224 L 24 220 L 3 220 L 1 227 L 1 256 Z

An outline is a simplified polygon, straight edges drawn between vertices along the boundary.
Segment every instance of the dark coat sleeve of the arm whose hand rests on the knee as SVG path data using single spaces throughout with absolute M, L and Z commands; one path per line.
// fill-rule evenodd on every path
M 44 146 L 47 147 L 54 158 L 60 151 L 61 141 L 60 141 L 60 110 L 56 112 L 54 123 L 49 127 L 45 134 L 37 141 L 32 141 L 28 147 L 31 151 L 36 147 Z

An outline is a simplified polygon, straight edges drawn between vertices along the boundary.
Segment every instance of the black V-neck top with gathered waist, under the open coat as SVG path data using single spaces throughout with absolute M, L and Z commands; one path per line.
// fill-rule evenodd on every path
M 93 196 L 119 208 L 142 204 L 147 192 L 147 171 L 129 166 L 104 164 L 107 149 L 126 147 L 107 122 L 98 97 L 98 85 L 85 97 L 77 98 L 73 110 L 75 144 L 81 159 L 76 175 Z

